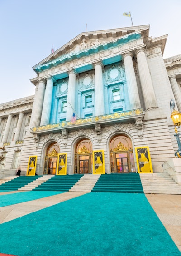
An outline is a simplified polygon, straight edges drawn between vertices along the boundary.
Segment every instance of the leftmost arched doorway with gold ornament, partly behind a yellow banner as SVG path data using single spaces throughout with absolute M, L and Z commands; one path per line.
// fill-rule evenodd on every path
M 51 143 L 46 152 L 44 172 L 45 175 L 55 175 L 57 169 L 57 157 L 60 153 L 58 143 Z

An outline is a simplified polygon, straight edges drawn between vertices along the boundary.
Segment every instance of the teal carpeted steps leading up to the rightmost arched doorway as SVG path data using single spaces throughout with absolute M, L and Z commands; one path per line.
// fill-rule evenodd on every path
M 101 175 L 91 192 L 144 193 L 138 173 Z

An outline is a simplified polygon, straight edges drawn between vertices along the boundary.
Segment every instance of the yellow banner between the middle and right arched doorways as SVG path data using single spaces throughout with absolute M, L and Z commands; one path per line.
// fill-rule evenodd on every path
M 93 174 L 105 174 L 104 150 L 93 151 Z

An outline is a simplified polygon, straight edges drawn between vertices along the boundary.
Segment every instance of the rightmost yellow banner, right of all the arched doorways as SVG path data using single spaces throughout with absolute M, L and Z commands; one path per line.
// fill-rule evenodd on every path
M 149 147 L 135 148 L 138 173 L 152 173 L 152 161 Z

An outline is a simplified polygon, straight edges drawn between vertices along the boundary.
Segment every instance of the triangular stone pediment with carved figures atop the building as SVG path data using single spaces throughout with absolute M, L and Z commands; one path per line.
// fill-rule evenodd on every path
M 147 41 L 149 25 L 84 32 L 77 35 L 74 39 L 63 45 L 61 48 L 57 49 L 46 59 L 43 59 L 41 62 L 35 65 L 33 69 L 37 72 L 42 66 L 54 63 L 56 60 L 62 58 L 73 58 L 75 55 L 82 52 L 84 52 L 84 54 L 86 54 L 86 52 L 89 52 L 89 54 L 95 53 L 96 51 L 106 49 L 106 47 L 116 45 L 118 40 L 119 43 L 121 43 L 126 42 L 126 38 L 129 38 L 129 40 L 136 39 L 136 37 L 134 38 L 133 35 L 138 34 L 139 37 L 143 37 L 144 41 Z M 122 41 L 120 41 L 121 39 Z

